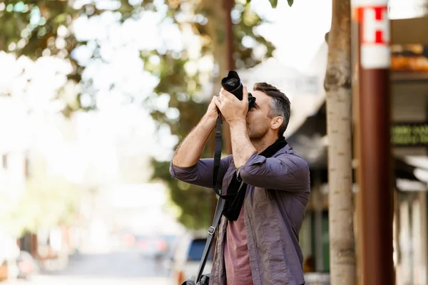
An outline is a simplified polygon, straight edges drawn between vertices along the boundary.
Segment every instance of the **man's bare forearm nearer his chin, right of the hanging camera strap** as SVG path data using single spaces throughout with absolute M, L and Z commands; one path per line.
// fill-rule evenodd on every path
M 233 162 L 238 169 L 245 165 L 251 155 L 257 153 L 250 137 L 248 137 L 245 120 L 230 123 L 230 140 L 232 141 Z

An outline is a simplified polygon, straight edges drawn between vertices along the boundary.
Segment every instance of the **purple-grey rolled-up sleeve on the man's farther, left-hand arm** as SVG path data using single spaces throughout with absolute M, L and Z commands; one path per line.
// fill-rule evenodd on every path
M 218 183 L 221 183 L 226 170 L 230 164 L 231 155 L 220 160 L 220 167 L 218 170 Z M 203 158 L 193 166 L 178 167 L 170 163 L 170 175 L 180 181 L 187 182 L 201 187 L 213 187 L 213 158 Z

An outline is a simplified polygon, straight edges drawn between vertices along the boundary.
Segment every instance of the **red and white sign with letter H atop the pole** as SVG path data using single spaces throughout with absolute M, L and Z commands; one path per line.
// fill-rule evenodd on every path
M 387 1 L 361 1 L 357 3 L 356 14 L 360 22 L 362 68 L 389 68 L 391 56 Z

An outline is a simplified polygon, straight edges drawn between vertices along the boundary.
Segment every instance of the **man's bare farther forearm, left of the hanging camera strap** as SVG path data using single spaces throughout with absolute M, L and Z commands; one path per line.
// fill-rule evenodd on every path
M 173 165 L 178 167 L 190 167 L 195 165 L 202 156 L 205 144 L 215 128 L 215 118 L 204 115 L 198 125 L 178 146 L 173 157 Z

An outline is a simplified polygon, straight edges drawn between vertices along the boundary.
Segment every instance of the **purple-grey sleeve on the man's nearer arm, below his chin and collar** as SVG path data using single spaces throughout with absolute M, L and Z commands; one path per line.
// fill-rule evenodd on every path
M 305 192 L 310 181 L 307 162 L 297 155 L 266 158 L 254 154 L 238 169 L 238 176 L 255 187 Z

